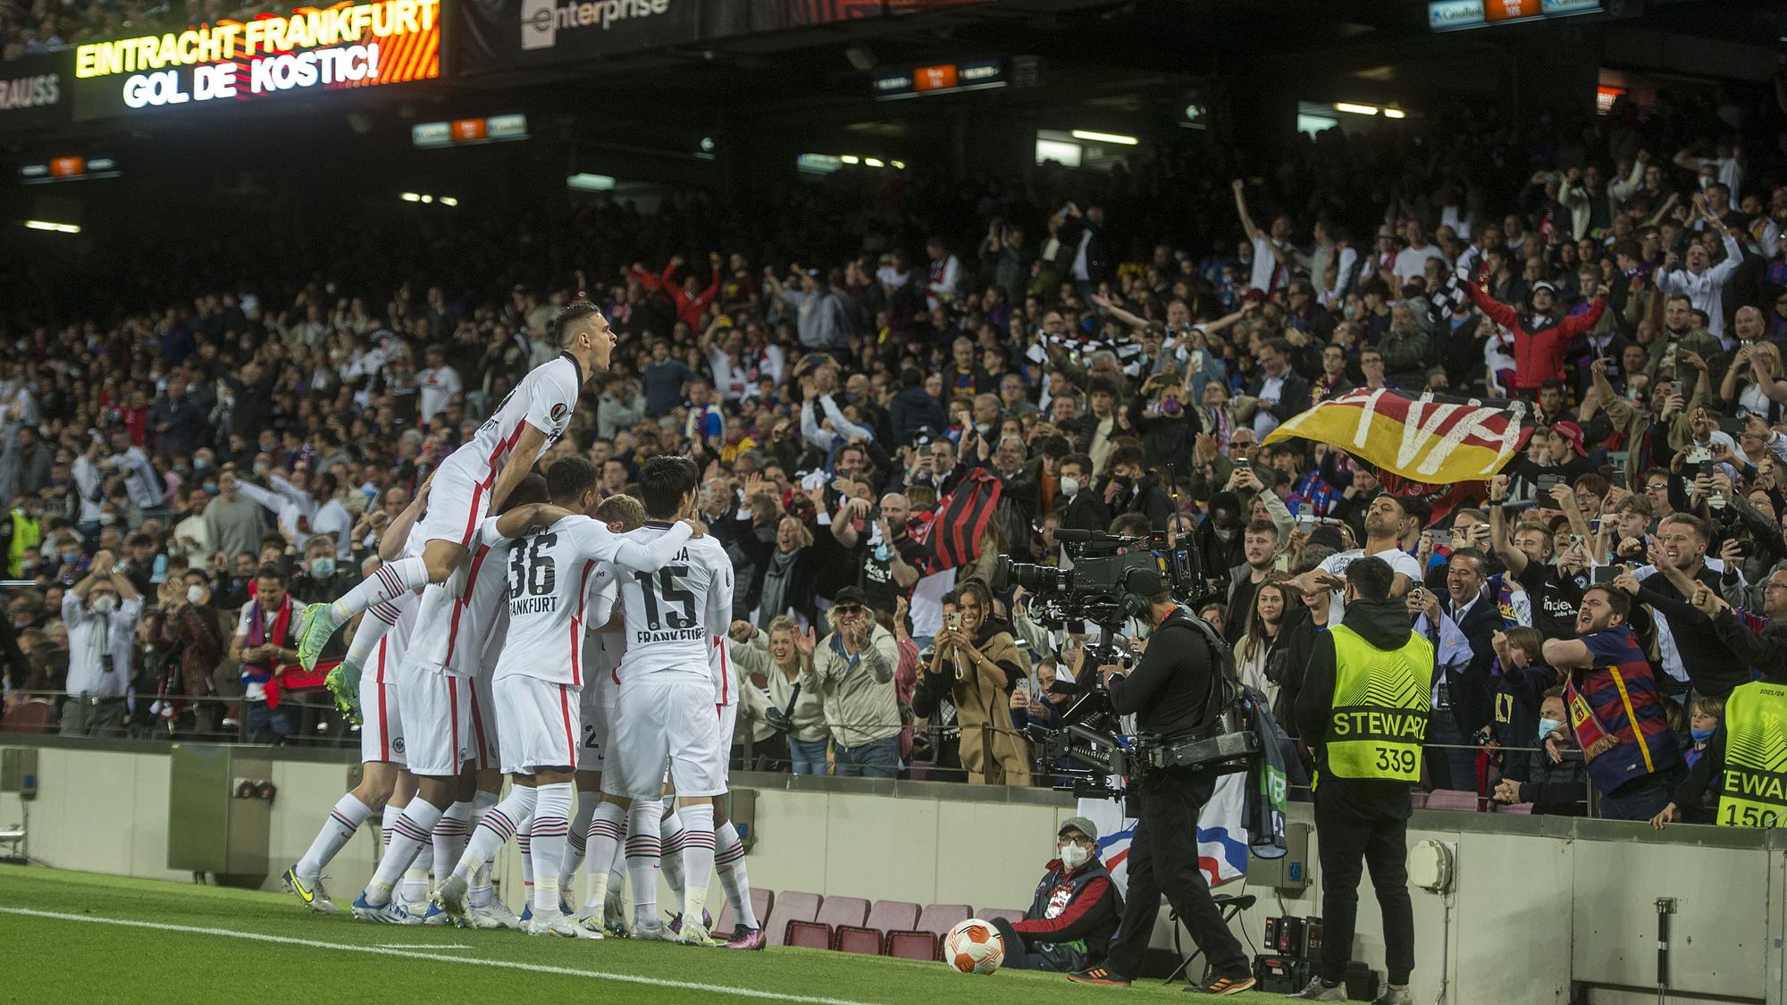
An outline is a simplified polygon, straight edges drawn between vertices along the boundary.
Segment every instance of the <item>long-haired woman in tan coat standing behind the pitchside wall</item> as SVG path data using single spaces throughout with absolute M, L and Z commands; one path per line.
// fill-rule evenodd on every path
M 951 603 L 945 597 L 944 603 Z M 1029 785 L 1029 744 L 1011 728 L 1010 692 L 1029 676 L 1029 656 L 994 619 L 986 583 L 969 579 L 954 594 L 960 621 L 936 635 L 936 651 L 919 681 L 924 705 L 945 692 L 961 726 L 961 767 L 970 783 Z M 920 699 L 913 694 L 913 710 Z M 924 712 L 919 712 L 920 715 Z

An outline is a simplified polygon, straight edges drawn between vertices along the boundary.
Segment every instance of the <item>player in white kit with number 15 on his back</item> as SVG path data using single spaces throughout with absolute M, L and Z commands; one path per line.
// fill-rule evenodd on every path
M 645 526 L 629 536 L 656 544 L 675 535 L 668 520 L 693 511 L 699 483 L 701 474 L 688 458 L 645 461 L 640 469 Z M 731 624 L 733 562 L 720 542 L 693 538 L 656 574 L 622 574 L 620 597 L 625 655 L 620 658 L 620 701 L 602 769 L 602 792 L 617 803 L 631 803 L 629 817 L 656 815 L 668 762 L 684 826 L 681 932 L 672 935 L 652 917 L 656 874 L 634 866 L 649 858 L 629 855 L 633 935 L 706 946 L 702 910 L 708 876 L 713 874 L 713 798 L 726 794 L 729 753 L 729 737 L 722 728 L 727 703 L 720 688 L 731 688 L 729 672 L 717 685 L 713 651 L 717 642 L 724 644 Z M 597 812 L 602 814 L 600 808 Z M 652 823 L 633 819 L 629 833 L 654 835 Z M 599 866 L 602 871 L 597 874 Z M 593 862 L 590 871 L 597 885 L 608 876 L 600 862 Z

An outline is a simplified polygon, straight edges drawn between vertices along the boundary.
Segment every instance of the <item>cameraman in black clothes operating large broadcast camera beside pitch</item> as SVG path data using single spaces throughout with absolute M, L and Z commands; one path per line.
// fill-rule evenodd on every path
M 1167 742 L 1187 739 L 1215 719 L 1219 708 L 1210 697 L 1217 683 L 1213 674 L 1222 667 L 1213 663 L 1204 633 L 1174 603 L 1158 572 L 1131 570 L 1126 588 L 1147 599 L 1145 621 L 1153 631 L 1135 672 L 1126 676 L 1117 667 L 1101 667 L 1112 708 L 1119 715 L 1133 714 L 1140 733 L 1156 733 Z M 1197 869 L 1197 815 L 1215 787 L 1217 776 L 1196 767 L 1169 767 L 1140 778 L 1131 790 L 1131 805 L 1140 807 L 1129 844 L 1129 903 L 1119 939 L 1104 966 L 1076 971 L 1069 980 L 1113 985 L 1135 980 L 1165 894 L 1215 973 L 1203 991 L 1240 994 L 1254 985 L 1247 957 L 1222 925 Z

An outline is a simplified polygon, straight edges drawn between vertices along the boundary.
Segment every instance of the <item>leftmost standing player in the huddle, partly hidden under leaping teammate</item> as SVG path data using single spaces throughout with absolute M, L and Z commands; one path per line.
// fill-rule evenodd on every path
M 393 562 L 404 554 L 416 526 L 416 517 L 427 504 L 427 490 L 416 495 L 409 506 L 386 526 L 379 538 L 379 558 Z M 361 651 L 370 649 L 372 658 L 366 674 L 354 674 L 359 694 L 345 703 L 345 712 L 361 724 L 359 760 L 363 764 L 359 785 L 341 796 L 329 808 L 329 819 L 311 842 L 311 848 L 291 867 L 286 869 L 286 891 L 304 901 L 311 910 L 338 914 L 323 889 L 323 869 L 347 846 L 359 824 L 373 814 L 384 810 L 397 789 L 399 774 L 404 771 L 404 726 L 397 699 L 397 665 L 404 658 L 404 646 L 409 629 L 416 621 L 415 594 L 402 594 L 391 601 L 381 601 L 368 608 L 354 631 L 354 644 Z M 370 642 L 366 642 L 370 640 Z M 365 658 L 365 656 L 363 656 Z M 334 676 L 334 674 L 331 674 Z

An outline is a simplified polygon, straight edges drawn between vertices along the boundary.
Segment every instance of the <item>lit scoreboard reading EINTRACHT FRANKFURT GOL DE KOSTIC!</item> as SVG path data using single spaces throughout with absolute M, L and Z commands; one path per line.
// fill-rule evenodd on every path
M 440 77 L 440 0 L 298 7 L 75 50 L 75 116 Z

